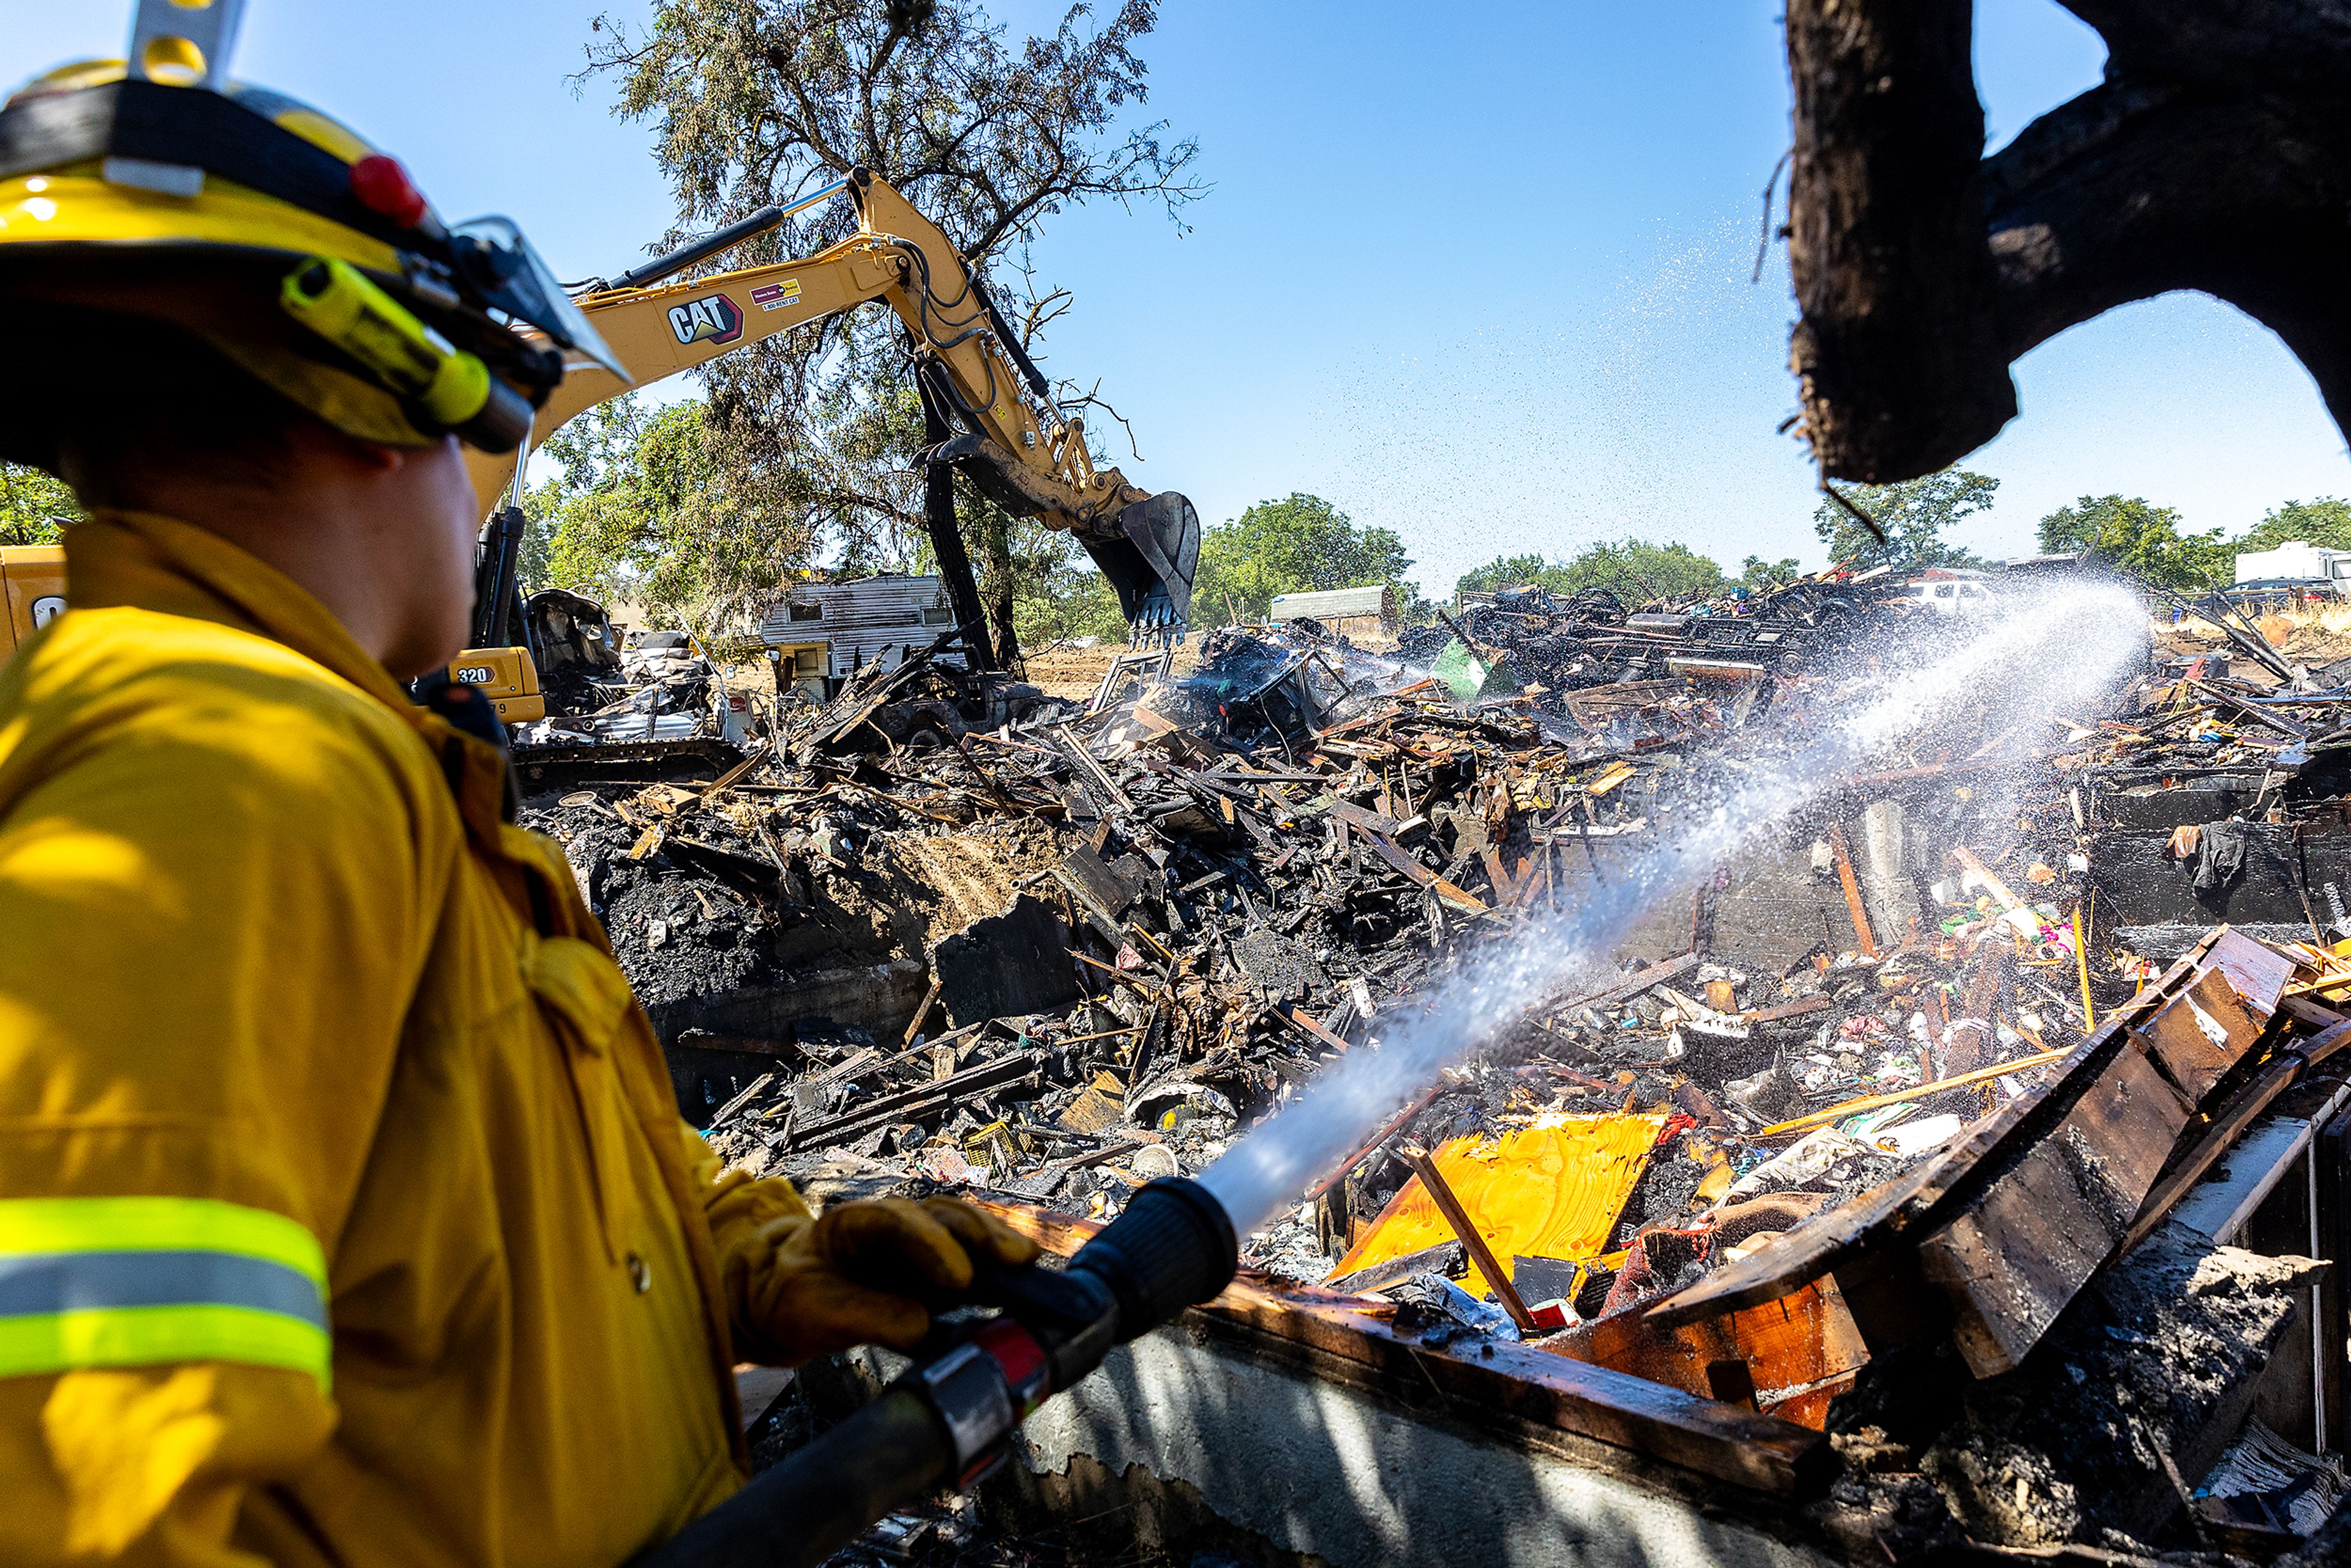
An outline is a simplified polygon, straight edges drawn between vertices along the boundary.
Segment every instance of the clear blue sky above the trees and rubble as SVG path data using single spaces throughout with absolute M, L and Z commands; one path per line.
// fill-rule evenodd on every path
M 237 73 L 400 153 L 442 212 L 510 212 L 557 270 L 611 270 L 670 200 L 649 132 L 567 82 L 597 9 L 252 0 Z M 1058 16 L 992 9 L 1016 33 Z M 1039 270 L 1077 310 L 1049 369 L 1100 376 L 1136 423 L 1138 482 L 1208 522 L 1328 496 L 1404 534 L 1432 590 L 1498 552 L 1622 534 L 1817 564 L 1810 465 L 1773 433 L 1794 411 L 1777 247 L 1749 284 L 1787 143 L 1777 9 L 1166 0 L 1147 113 L 1199 139 L 1213 193 L 1190 233 L 1117 207 L 1056 221 Z M 118 52 L 127 16 L 0 0 L 0 75 Z M 1977 0 L 1994 143 L 2099 63 L 2050 0 Z M 2078 494 L 2231 531 L 2351 494 L 2309 376 L 2210 299 L 2076 327 L 2017 388 L 2022 418 L 1968 458 L 2001 480 L 1968 536 L 1987 555 L 2029 550 Z

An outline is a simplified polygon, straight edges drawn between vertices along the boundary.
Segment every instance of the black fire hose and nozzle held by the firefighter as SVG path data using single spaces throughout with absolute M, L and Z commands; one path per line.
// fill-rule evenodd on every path
M 630 1568 L 820 1563 L 884 1514 L 990 1474 L 1037 1406 L 1114 1347 L 1213 1298 L 1237 1267 L 1232 1220 L 1206 1187 L 1150 1182 L 1070 1267 L 983 1272 L 976 1284 L 997 1316 Z

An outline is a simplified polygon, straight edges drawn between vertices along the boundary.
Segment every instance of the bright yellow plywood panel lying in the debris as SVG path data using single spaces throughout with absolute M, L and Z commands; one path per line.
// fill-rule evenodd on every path
M 1608 1244 L 1625 1199 L 1665 1128 L 1665 1114 L 1549 1117 L 1495 1138 L 1455 1138 L 1436 1171 L 1502 1267 L 1512 1258 L 1592 1258 Z M 1331 1276 L 1453 1239 L 1420 1178 L 1380 1211 Z

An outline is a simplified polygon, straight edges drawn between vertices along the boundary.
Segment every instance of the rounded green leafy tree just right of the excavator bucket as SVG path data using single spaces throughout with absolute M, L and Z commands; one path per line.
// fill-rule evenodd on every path
M 1227 625 L 1234 614 L 1262 621 L 1277 592 L 1368 588 L 1385 583 L 1399 604 L 1420 599 L 1404 581 L 1413 569 L 1394 529 L 1357 527 L 1321 496 L 1260 501 L 1208 529 L 1192 583 L 1192 623 Z

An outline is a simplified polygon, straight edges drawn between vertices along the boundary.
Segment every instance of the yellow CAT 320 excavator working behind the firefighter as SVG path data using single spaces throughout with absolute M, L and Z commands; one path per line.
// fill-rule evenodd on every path
M 766 233 L 795 212 L 846 195 L 858 233 L 802 261 L 668 282 L 710 256 Z M 950 468 L 1020 517 L 1074 534 L 1119 595 L 1138 644 L 1173 642 L 1192 607 L 1199 562 L 1199 515 L 1176 491 L 1145 494 L 1117 468 L 1096 468 L 1086 428 L 1063 416 L 1051 386 L 1030 362 L 983 280 L 955 244 L 886 181 L 853 169 L 823 190 L 766 207 L 703 240 L 656 256 L 611 280 L 578 284 L 588 315 L 625 376 L 571 355 L 562 386 L 538 409 L 531 435 L 513 454 L 468 449 L 482 529 L 473 642 L 449 661 L 449 679 L 480 686 L 508 722 L 545 715 L 543 658 L 534 649 L 517 590 L 524 534 L 522 475 L 529 454 L 567 418 L 611 397 L 809 322 L 882 301 L 898 313 L 912 348 L 924 404 L 924 522 L 976 672 L 1002 663 L 987 639 L 987 616 L 955 522 Z M 501 505 L 503 501 L 503 505 Z M 63 552 L 54 545 L 0 550 L 0 658 L 66 604 Z M 576 595 L 567 595 L 576 597 Z M 590 616 L 590 621 L 597 621 Z M 607 632 L 609 635 L 609 632 Z

